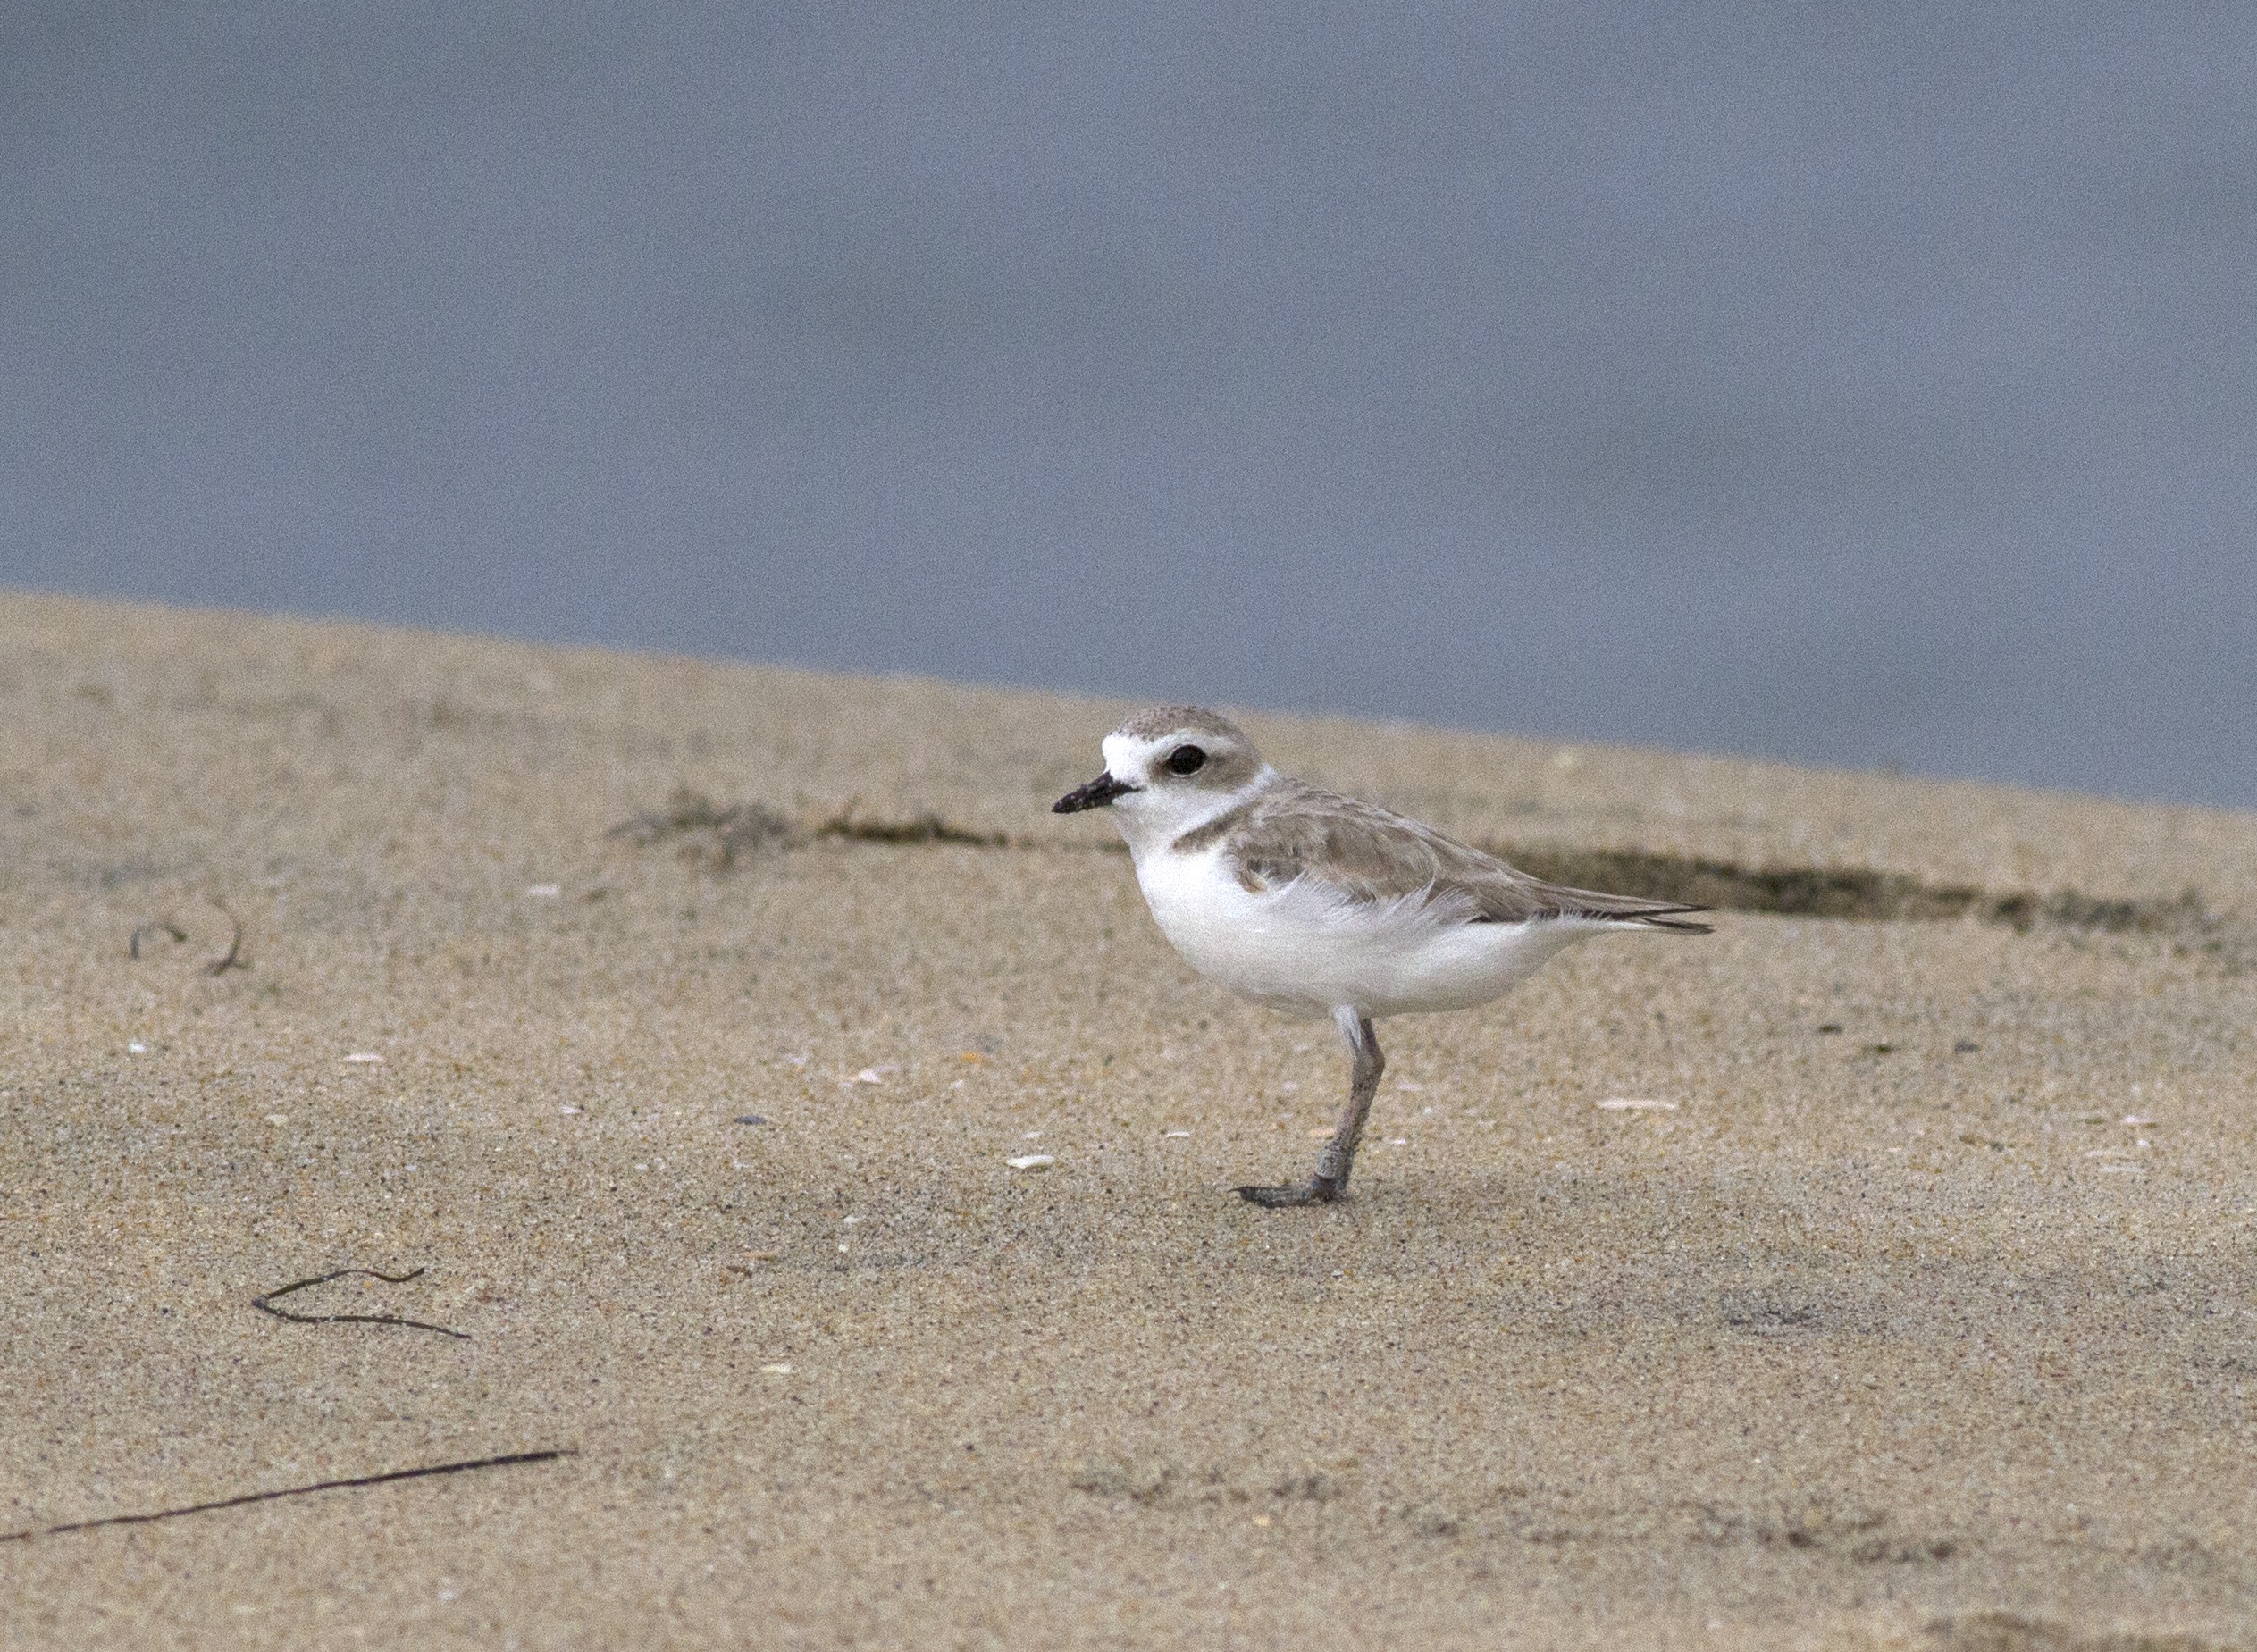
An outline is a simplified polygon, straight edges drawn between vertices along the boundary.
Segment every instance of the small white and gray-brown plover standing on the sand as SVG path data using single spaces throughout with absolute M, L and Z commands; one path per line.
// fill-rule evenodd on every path
M 1347 1189 L 1386 1058 L 1372 1022 L 1487 1004 L 1553 952 L 1605 930 L 1706 934 L 1675 900 L 1560 889 L 1433 826 L 1289 779 L 1230 718 L 1140 711 L 1104 740 L 1106 772 L 1052 808 L 1110 808 L 1160 932 L 1201 975 L 1291 1016 L 1332 1016 L 1352 1065 L 1316 1174 L 1241 1187 L 1257 1205 Z

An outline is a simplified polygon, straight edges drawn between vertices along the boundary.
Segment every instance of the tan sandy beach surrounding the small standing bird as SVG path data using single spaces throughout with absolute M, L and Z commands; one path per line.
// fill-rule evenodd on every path
M 1250 718 L 1977 914 L 1393 1022 L 1268 1214 L 1341 1061 L 1045 812 L 1117 711 L 0 598 L 0 1526 L 578 1451 L 7 1544 L 0 1636 L 2257 1647 L 2257 817 Z M 345 1266 L 467 1341 L 251 1304 Z

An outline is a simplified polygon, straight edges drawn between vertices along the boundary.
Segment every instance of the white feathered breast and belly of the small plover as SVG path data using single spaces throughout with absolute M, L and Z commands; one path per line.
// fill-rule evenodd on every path
M 1201 975 L 1277 1009 L 1467 1009 L 1510 991 L 1596 923 L 1465 923 L 1420 900 L 1345 903 L 1309 880 L 1255 894 L 1219 851 L 1138 858 L 1160 932 Z

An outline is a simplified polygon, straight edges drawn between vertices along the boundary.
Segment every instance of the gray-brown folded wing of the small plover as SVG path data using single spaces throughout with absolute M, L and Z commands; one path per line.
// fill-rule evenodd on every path
M 1232 871 L 1248 889 L 1280 889 L 1314 878 L 1347 900 L 1402 900 L 1426 894 L 1465 905 L 1469 923 L 1528 919 L 1609 919 L 1663 930 L 1704 932 L 1688 921 L 1704 907 L 1643 896 L 1562 889 L 1530 878 L 1456 837 L 1356 797 L 1302 781 L 1280 781 L 1262 797 L 1210 821 L 1192 837 L 1232 844 Z

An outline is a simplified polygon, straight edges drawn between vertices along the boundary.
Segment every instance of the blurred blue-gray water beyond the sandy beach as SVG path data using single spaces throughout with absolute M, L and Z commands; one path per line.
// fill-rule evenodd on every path
M 2257 803 L 2252 18 L 18 0 L 0 580 Z

